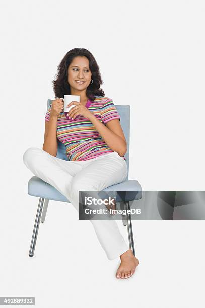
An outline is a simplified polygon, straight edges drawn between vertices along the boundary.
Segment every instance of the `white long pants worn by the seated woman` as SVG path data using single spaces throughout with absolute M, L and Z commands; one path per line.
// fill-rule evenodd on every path
M 127 176 L 126 162 L 117 152 L 106 153 L 87 161 L 73 162 L 31 147 L 25 151 L 23 161 L 35 176 L 64 195 L 77 211 L 80 190 L 101 191 L 123 182 Z M 89 221 L 109 260 L 116 259 L 129 249 L 113 218 Z

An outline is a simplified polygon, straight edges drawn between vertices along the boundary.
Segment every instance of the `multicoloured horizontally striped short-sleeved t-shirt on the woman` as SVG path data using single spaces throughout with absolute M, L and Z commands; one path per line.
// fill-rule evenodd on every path
M 47 109 L 45 121 L 50 119 L 51 104 Z M 85 106 L 101 123 L 120 120 L 120 115 L 110 98 L 96 96 L 93 101 L 88 100 Z M 66 116 L 67 112 L 64 111 L 58 116 L 57 139 L 64 144 L 69 161 L 86 161 L 113 152 L 89 119 L 77 115 L 72 120 Z

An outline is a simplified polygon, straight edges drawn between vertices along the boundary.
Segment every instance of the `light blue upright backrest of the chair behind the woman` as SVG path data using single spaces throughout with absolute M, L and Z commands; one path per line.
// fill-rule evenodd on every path
M 48 109 L 48 106 L 51 103 L 52 103 L 52 100 L 48 100 L 47 109 Z M 115 107 L 116 107 L 116 109 L 117 109 L 117 111 L 120 115 L 120 124 L 121 124 L 121 127 L 123 129 L 126 141 L 127 141 L 127 152 L 125 153 L 125 159 L 126 159 L 126 163 L 127 163 L 128 173 L 127 173 L 127 177 L 126 177 L 125 180 L 128 180 L 128 178 L 129 178 L 130 106 L 129 105 L 115 105 Z M 46 111 L 47 111 L 47 109 L 46 109 Z M 60 142 L 58 139 L 57 139 L 57 143 L 58 143 L 58 149 L 57 149 L 56 157 L 67 161 L 67 156 L 66 156 L 64 144 L 62 142 Z

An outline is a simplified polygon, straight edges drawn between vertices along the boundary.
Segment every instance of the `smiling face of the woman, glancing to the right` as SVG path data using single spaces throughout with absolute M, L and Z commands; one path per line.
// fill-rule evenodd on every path
M 83 56 L 77 56 L 73 59 L 68 67 L 68 83 L 71 89 L 74 90 L 85 90 L 91 82 L 91 70 L 89 68 L 88 59 Z M 83 81 L 83 83 L 78 83 L 77 81 Z

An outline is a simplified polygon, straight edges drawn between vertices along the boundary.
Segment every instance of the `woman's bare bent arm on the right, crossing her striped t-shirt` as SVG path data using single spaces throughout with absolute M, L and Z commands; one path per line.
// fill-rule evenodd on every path
M 120 156 L 126 153 L 126 139 L 118 119 L 107 122 L 106 126 L 94 114 L 89 115 L 89 120 L 93 123 L 109 148 L 117 152 Z

